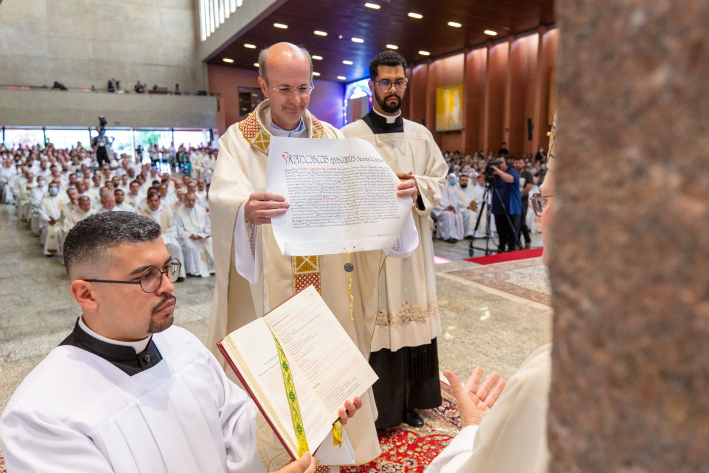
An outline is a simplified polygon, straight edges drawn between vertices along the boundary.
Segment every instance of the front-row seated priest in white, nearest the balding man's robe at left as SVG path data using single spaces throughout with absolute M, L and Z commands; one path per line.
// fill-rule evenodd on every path
M 187 274 L 206 278 L 214 274 L 212 226 L 209 214 L 204 207 L 196 203 L 197 196 L 194 192 L 187 192 L 184 205 L 177 209 L 175 218 Z

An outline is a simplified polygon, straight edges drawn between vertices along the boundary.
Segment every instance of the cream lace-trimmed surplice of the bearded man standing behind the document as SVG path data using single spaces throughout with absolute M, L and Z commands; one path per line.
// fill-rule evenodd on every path
M 364 120 L 357 120 L 345 126 L 342 134 L 372 143 L 395 173 L 413 172 L 420 192 L 412 211 L 419 235 L 413 254 L 381 261 L 381 252 L 366 253 L 370 270 L 377 271 L 384 264 L 379 273 L 378 306 L 376 298 L 362 301 L 370 322 L 376 314 L 372 352 L 429 344 L 440 334 L 441 325 L 428 215 L 441 199 L 448 166 L 430 131 L 413 121 L 403 120 L 403 132 L 374 134 Z

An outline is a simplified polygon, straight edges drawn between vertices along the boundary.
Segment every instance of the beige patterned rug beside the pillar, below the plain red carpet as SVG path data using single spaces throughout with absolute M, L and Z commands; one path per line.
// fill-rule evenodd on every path
M 451 271 L 450 274 L 483 284 L 537 303 L 552 305 L 547 268 L 541 258 Z

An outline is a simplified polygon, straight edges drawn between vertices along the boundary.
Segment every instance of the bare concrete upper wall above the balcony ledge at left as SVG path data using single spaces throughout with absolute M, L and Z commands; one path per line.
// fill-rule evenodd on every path
M 206 89 L 197 28 L 194 0 L 3 0 L 0 85 Z

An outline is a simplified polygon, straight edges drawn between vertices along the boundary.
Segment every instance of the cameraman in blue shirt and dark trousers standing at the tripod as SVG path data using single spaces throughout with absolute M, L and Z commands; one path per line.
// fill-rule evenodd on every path
M 508 165 L 505 156 L 487 165 L 485 170 L 488 182 L 493 180 L 492 213 L 500 237 L 499 251 L 515 251 L 519 243 L 517 229 L 522 213 L 522 195 L 520 194 L 520 175 Z

